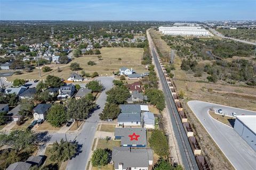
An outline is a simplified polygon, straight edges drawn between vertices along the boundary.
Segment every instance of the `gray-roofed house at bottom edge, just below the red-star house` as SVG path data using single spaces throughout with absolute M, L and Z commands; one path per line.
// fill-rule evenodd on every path
M 153 151 L 146 148 L 114 147 L 112 161 L 115 170 L 145 169 L 153 165 Z

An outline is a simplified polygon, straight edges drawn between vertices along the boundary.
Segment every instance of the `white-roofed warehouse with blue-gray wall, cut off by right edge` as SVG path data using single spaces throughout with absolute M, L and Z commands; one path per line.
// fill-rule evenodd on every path
M 237 116 L 234 130 L 256 151 L 256 115 Z

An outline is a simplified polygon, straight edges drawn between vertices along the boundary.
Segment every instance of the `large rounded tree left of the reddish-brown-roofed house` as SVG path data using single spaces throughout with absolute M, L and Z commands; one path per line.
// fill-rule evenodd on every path
M 131 96 L 128 88 L 125 86 L 116 86 L 106 92 L 107 101 L 114 104 L 124 104 L 126 100 Z

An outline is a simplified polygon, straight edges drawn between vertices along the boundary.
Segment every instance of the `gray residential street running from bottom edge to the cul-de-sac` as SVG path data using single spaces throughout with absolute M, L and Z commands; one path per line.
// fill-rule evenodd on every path
M 113 77 L 100 77 L 98 78 L 99 81 L 105 86 L 105 90 L 101 93 L 97 100 L 97 104 L 100 106 L 100 109 L 95 111 L 90 118 L 87 119 L 87 122 L 84 123 L 81 132 L 77 135 L 76 141 L 79 144 L 82 144 L 82 152 L 76 156 L 75 158 L 71 159 L 67 165 L 68 170 L 82 170 L 85 169 L 87 162 L 89 161 L 89 155 L 92 147 L 92 142 L 94 138 L 94 134 L 97 130 L 98 122 L 99 122 L 99 113 L 102 112 L 102 109 L 105 106 L 107 95 L 106 91 L 113 87 L 112 81 L 114 80 Z

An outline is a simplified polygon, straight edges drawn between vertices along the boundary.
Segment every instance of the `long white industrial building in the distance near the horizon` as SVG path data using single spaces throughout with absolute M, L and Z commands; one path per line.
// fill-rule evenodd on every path
M 201 27 L 159 27 L 159 31 L 161 31 L 165 35 L 174 35 L 174 36 L 211 36 L 211 33 Z

